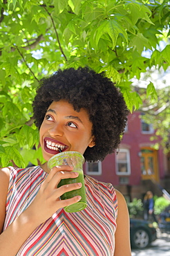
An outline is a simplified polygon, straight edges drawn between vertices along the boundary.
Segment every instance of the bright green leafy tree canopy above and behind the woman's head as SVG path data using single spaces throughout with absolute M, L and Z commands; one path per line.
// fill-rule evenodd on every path
M 42 161 L 31 104 L 41 77 L 58 68 L 105 72 L 129 109 L 138 109 L 142 100 L 130 80 L 169 66 L 169 17 L 167 0 L 1 0 L 0 165 Z

